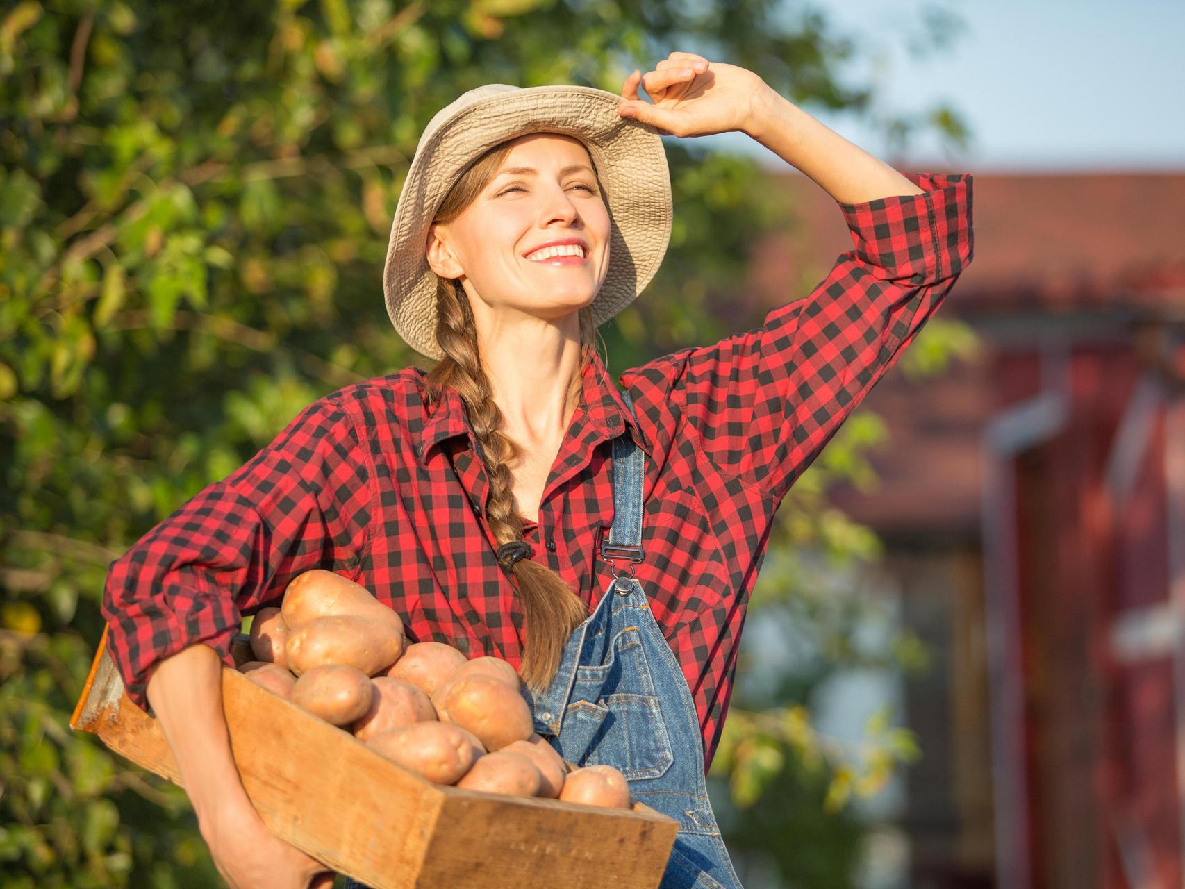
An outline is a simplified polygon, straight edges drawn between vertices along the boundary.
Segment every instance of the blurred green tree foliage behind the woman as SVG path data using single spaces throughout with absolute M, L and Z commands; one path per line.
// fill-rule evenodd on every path
M 108 563 L 309 402 L 416 359 L 387 321 L 382 267 L 437 109 L 488 82 L 617 92 L 672 50 L 749 66 L 808 108 L 872 98 L 837 77 L 852 40 L 770 0 L 0 11 L 4 885 L 218 884 L 184 792 L 68 727 Z M 929 120 L 960 128 L 946 111 Z M 671 247 L 647 299 L 603 331 L 614 371 L 760 324 L 725 318 L 719 299 L 749 244 L 789 219 L 751 161 L 666 142 Z M 935 330 L 930 366 L 949 351 Z M 783 510 L 779 546 L 873 555 L 822 492 L 867 475 L 860 454 L 875 439 L 875 418 L 850 422 Z M 767 607 L 794 600 L 792 586 Z M 774 703 L 790 709 L 738 708 L 731 723 L 720 768 L 741 805 L 811 757 L 809 702 Z M 845 757 L 827 762 L 811 773 L 819 786 L 853 780 Z M 843 793 L 821 791 L 816 808 Z

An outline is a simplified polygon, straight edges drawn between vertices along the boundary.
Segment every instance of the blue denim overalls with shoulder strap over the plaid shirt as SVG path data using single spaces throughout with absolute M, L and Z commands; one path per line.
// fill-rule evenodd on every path
M 629 394 L 622 397 L 633 411 Z M 601 557 L 616 576 L 569 637 L 551 685 L 537 699 L 523 693 L 534 730 L 565 760 L 621 769 L 634 799 L 679 823 L 659 889 L 742 889 L 707 799 L 691 692 L 634 577 L 632 563 L 643 558 L 645 460 L 628 431 L 614 439 L 614 516 Z M 346 889 L 366 888 L 347 880 Z

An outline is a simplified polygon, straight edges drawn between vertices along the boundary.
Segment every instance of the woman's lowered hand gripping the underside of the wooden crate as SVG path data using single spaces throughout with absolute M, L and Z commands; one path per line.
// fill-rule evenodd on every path
M 334 871 L 286 843 L 255 810 L 219 813 L 201 834 L 230 889 L 331 889 Z

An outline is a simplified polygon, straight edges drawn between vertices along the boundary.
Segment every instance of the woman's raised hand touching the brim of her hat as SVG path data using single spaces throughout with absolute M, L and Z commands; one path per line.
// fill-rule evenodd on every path
M 638 96 L 638 87 L 653 104 Z M 626 78 L 617 107 L 623 117 L 649 123 L 664 135 L 709 136 L 745 130 L 769 87 L 752 71 L 723 62 L 709 63 L 692 52 L 672 52 L 645 75 Z

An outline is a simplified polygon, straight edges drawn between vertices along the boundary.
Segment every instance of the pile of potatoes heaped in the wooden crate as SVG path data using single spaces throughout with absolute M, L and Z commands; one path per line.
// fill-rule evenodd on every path
M 436 784 L 629 807 L 611 766 L 569 766 L 533 731 L 518 672 L 443 642 L 405 645 L 403 621 L 353 581 L 313 570 L 251 622 L 249 679 Z

